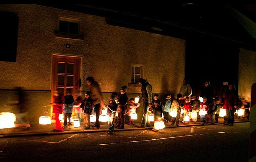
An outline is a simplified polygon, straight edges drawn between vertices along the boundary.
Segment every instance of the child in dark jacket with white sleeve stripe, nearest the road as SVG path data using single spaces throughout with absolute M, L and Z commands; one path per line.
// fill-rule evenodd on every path
M 108 115 L 109 115 L 109 121 L 108 121 L 108 127 L 109 130 L 107 133 L 111 134 L 114 133 L 114 118 L 116 117 L 116 110 L 117 110 L 117 103 L 115 101 L 115 96 L 111 96 L 109 98 L 108 103 Z

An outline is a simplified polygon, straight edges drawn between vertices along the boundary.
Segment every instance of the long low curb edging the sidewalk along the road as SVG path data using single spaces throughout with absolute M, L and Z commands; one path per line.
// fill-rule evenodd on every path
M 247 123 L 250 121 L 234 121 L 234 123 Z M 205 124 L 205 125 L 220 125 L 223 123 L 214 123 L 214 124 Z M 201 124 L 189 124 L 189 125 L 180 125 L 179 127 L 193 127 L 193 126 L 204 126 Z M 178 128 L 177 126 L 167 126 L 165 128 Z M 123 131 L 136 131 L 136 130 L 147 130 L 152 129 L 151 127 L 146 128 L 128 128 L 128 129 L 115 129 L 115 132 L 123 132 Z M 17 137 L 17 136 L 34 136 L 34 135 L 59 135 L 59 134 L 72 134 L 72 133 L 100 133 L 106 132 L 108 129 L 101 129 L 101 130 L 78 130 L 78 131 L 63 131 L 63 132 L 33 132 L 33 133 L 10 133 L 5 135 L 0 135 L 0 138 L 5 137 Z

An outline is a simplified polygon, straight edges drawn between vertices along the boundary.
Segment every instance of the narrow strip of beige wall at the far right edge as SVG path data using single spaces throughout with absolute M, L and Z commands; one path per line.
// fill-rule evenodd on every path
M 240 49 L 238 95 L 251 101 L 251 87 L 256 83 L 256 51 Z

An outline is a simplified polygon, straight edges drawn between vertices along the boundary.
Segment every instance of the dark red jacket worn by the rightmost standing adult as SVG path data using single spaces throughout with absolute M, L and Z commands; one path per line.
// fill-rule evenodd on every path
M 223 109 L 234 110 L 234 106 L 238 105 L 238 95 L 234 90 L 227 90 L 224 97 Z

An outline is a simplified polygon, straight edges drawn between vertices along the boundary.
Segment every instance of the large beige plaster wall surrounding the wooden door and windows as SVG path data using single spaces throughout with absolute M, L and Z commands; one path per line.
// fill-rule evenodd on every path
M 185 74 L 183 39 L 107 25 L 103 17 L 39 5 L 1 4 L 0 11 L 19 17 L 17 61 L 0 61 L 0 90 L 22 86 L 50 91 L 52 54 L 58 53 L 83 56 L 82 91 L 88 90 L 86 77 L 93 76 L 103 92 L 119 92 L 130 83 L 131 64 L 143 64 L 144 78 L 153 86 L 153 93 L 179 92 Z M 59 16 L 81 19 L 84 40 L 54 37 Z M 65 48 L 66 44 L 71 48 Z M 128 87 L 128 93 L 140 93 L 140 87 Z M 49 104 L 50 93 L 47 96 L 42 105 Z M 48 111 L 37 114 L 43 112 Z

